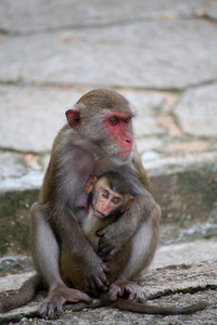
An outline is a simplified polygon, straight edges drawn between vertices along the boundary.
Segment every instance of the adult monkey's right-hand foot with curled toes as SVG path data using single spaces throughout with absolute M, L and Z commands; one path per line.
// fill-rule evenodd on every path
M 108 299 L 110 301 L 117 300 L 118 296 L 124 297 L 128 295 L 127 300 L 143 303 L 146 300 L 146 295 L 142 291 L 142 288 L 130 281 L 116 280 L 110 287 Z

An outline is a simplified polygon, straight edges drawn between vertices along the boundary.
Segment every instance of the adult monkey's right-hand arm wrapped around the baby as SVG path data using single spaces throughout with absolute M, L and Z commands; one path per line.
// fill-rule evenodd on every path
M 98 232 L 101 237 L 99 256 L 104 257 L 104 260 L 122 250 L 143 223 L 146 224 L 150 235 L 155 236 L 156 232 L 154 226 L 151 226 L 150 219 L 153 220 L 153 224 L 155 220 L 158 223 L 161 216 L 161 208 L 149 192 L 150 182 L 137 152 L 133 158 L 133 169 L 122 168 L 120 173 L 123 177 L 128 177 L 127 181 L 133 192 L 135 202 L 117 222 Z

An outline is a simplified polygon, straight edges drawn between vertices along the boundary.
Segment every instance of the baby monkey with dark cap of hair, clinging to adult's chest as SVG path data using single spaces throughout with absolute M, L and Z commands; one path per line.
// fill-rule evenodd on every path
M 88 216 L 81 229 L 94 251 L 98 251 L 100 237 L 97 232 L 114 223 L 127 211 L 135 198 L 130 195 L 124 179 L 116 172 L 107 172 L 100 178 L 90 174 L 86 183 Z M 104 260 L 108 259 L 108 256 Z

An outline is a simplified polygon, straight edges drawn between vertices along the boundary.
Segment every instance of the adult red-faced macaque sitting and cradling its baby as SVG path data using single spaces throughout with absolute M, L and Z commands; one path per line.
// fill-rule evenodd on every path
M 149 180 L 135 148 L 132 116 L 124 96 L 103 89 L 88 92 L 66 112 L 67 125 L 54 141 L 39 203 L 31 207 L 30 240 L 37 275 L 24 284 L 17 296 L 2 302 L 0 311 L 27 303 L 40 284 L 49 289 L 39 308 L 43 317 L 60 315 L 66 301 L 90 301 L 86 294 L 64 284 L 59 268 L 62 247 L 79 265 L 87 292 L 108 290 L 111 300 L 116 300 L 129 291 L 131 300 L 141 300 L 141 290 L 138 295 L 133 285 L 110 286 L 110 270 L 103 261 L 124 252 L 131 240 L 131 255 L 122 274 L 124 280 L 130 280 L 151 263 L 156 249 L 161 209 L 149 193 Z M 98 232 L 97 253 L 80 227 L 87 210 L 85 185 L 89 174 L 110 170 L 125 179 L 135 200 L 122 218 Z

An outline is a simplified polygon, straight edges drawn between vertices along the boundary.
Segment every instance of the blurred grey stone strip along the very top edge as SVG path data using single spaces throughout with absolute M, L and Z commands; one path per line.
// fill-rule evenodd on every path
M 214 3 L 214 4 L 213 4 Z M 42 1 L 35 0 L 30 5 L 27 0 L 14 3 L 13 0 L 1 1 L 0 27 L 5 32 L 38 32 L 79 26 L 114 23 L 127 23 L 137 20 L 188 17 L 196 12 L 214 11 L 215 1 L 139 0 L 110 1 Z M 122 8 L 122 10 L 118 10 Z M 212 9 L 212 10 L 210 10 Z

